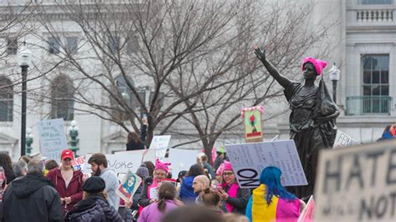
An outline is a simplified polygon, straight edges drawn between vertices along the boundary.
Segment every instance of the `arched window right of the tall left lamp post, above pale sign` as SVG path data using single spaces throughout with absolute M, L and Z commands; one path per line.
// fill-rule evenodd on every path
M 51 119 L 73 120 L 74 87 L 71 79 L 58 75 L 51 83 Z

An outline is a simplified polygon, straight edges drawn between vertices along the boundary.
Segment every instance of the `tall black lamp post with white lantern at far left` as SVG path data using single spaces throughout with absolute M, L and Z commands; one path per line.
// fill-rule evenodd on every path
M 30 50 L 26 47 L 25 42 L 23 42 L 23 46 L 19 54 L 19 66 L 22 68 L 21 156 L 24 156 L 26 149 L 26 80 L 27 68 L 29 68 L 31 55 Z

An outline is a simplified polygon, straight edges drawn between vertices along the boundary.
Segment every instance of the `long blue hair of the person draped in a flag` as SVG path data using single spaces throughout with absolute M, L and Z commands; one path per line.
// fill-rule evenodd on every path
M 282 199 L 296 199 L 294 194 L 288 192 L 280 182 L 280 175 L 282 171 L 278 167 L 265 167 L 261 171 L 260 183 L 267 186 L 267 193 L 265 194 L 265 200 L 267 204 L 270 205 L 272 196 L 276 196 Z

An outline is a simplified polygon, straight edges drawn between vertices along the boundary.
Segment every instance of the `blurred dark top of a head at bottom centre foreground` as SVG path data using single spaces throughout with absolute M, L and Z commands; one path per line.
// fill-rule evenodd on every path
M 216 211 L 206 207 L 178 207 L 166 214 L 161 222 L 224 222 Z

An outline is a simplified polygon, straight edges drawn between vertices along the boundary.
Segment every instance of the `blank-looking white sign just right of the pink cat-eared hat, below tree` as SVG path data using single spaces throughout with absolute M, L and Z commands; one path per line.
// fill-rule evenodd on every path
M 165 162 L 170 162 L 169 168 L 172 172 L 172 179 L 177 179 L 179 172 L 189 170 L 190 166 L 196 164 L 197 150 L 185 149 L 169 149 L 169 157 L 165 158 Z

